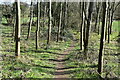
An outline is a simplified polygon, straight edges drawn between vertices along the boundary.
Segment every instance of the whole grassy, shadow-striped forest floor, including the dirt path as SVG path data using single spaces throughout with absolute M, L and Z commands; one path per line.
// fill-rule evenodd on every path
M 0 25 L 2 29 L 2 76 L 3 78 L 57 78 L 65 74 L 69 78 L 98 78 L 97 60 L 99 52 L 100 35 L 91 33 L 89 40 L 88 59 L 79 48 L 79 33 L 72 30 L 75 40 L 66 42 L 51 41 L 51 46 L 46 50 L 46 40 L 39 41 L 39 49 L 35 50 L 35 27 L 32 27 L 31 38 L 27 41 L 27 27 L 22 26 L 21 57 L 14 57 L 14 37 L 12 27 Z M 118 33 L 113 32 L 111 42 L 105 43 L 103 77 L 117 78 L 119 71 Z M 74 46 L 73 46 L 74 45 Z M 72 47 L 72 49 L 71 49 Z M 67 50 L 67 52 L 65 52 Z M 63 56 L 64 55 L 64 56 Z M 63 56 L 63 57 L 62 57 Z M 61 59 L 62 58 L 62 59 Z M 63 61 L 64 65 L 59 64 Z M 55 63 L 57 62 L 57 63 Z M 60 68 L 58 68 L 60 66 Z M 63 73 L 60 69 L 63 68 Z M 59 70 L 58 70 L 59 69 Z M 67 71 L 66 71 L 67 70 Z M 57 76 L 56 76 L 57 75 Z

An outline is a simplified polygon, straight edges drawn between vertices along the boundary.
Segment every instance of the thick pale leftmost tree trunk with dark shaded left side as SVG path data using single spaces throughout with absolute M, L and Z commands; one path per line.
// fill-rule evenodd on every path
M 20 56 L 20 1 L 16 0 L 15 56 Z

